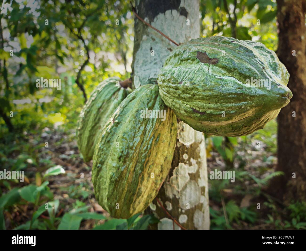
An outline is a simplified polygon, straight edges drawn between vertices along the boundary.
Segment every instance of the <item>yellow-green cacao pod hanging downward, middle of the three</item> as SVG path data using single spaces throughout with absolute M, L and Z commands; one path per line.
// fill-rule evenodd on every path
M 150 110 L 163 111 L 163 118 Z M 112 217 L 129 218 L 155 198 L 171 167 L 176 124 L 152 84 L 135 89 L 111 116 L 95 148 L 92 183 Z

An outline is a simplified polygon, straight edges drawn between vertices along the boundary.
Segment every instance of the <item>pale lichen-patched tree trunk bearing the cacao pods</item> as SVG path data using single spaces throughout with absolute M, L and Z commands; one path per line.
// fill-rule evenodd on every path
M 197 0 L 136 1 L 136 13 L 146 22 L 181 44 L 199 37 Z M 189 20 L 189 21 L 188 21 Z M 176 47 L 135 17 L 132 63 L 137 88 L 156 83 L 166 56 Z M 209 229 L 207 165 L 204 135 L 180 121 L 172 167 L 157 198 L 169 214 L 186 229 Z M 158 229 L 180 229 L 156 199 L 150 209 L 159 219 Z

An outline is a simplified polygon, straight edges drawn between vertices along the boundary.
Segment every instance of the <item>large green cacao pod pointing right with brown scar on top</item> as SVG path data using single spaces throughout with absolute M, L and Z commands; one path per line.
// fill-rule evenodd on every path
M 181 44 L 158 76 L 162 100 L 177 117 L 197 131 L 221 136 L 262 129 L 289 103 L 288 80 L 274 51 L 221 36 Z

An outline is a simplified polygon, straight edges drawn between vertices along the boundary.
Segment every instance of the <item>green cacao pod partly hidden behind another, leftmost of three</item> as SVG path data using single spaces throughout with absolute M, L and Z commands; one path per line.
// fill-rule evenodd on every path
M 85 162 L 92 159 L 99 134 L 107 120 L 129 94 L 127 89 L 119 85 L 119 81 L 119 78 L 113 77 L 101 82 L 83 108 L 76 135 Z

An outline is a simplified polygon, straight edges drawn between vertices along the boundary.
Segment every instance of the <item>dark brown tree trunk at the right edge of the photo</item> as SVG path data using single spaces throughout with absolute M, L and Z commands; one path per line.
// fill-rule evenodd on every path
M 306 200 L 306 1 L 277 0 L 277 4 L 277 54 L 290 74 L 293 98 L 278 115 L 277 170 L 285 175 L 272 181 L 271 189 L 288 203 Z

